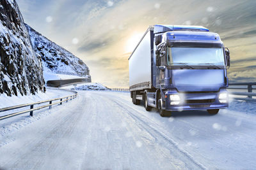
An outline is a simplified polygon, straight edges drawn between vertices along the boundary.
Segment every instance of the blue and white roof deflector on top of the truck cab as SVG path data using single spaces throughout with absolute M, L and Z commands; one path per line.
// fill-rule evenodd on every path
M 204 31 L 209 32 L 209 29 L 198 25 L 154 25 L 154 34 L 167 31 Z

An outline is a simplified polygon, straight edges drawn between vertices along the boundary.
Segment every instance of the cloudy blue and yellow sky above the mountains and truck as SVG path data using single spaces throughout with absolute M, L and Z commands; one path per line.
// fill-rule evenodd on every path
M 93 82 L 128 87 L 128 58 L 149 25 L 203 25 L 230 50 L 230 81 L 256 81 L 254 0 L 17 0 L 24 21 L 90 68 Z

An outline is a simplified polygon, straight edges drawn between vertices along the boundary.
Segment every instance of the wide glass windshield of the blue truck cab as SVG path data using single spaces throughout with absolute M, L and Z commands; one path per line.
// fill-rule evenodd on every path
M 168 48 L 168 64 L 224 66 L 222 48 L 172 47 Z

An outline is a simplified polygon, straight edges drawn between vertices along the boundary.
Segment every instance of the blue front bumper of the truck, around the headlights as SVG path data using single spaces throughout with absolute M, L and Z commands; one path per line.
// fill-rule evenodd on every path
M 221 92 L 227 92 L 221 90 L 220 92 L 198 92 L 198 93 L 179 93 L 179 92 L 166 92 L 165 93 L 165 110 L 168 111 L 180 111 L 180 110 L 211 110 L 211 109 L 223 109 L 228 107 L 227 103 L 220 103 L 219 95 Z M 171 104 L 170 95 L 178 94 L 180 96 L 179 104 Z

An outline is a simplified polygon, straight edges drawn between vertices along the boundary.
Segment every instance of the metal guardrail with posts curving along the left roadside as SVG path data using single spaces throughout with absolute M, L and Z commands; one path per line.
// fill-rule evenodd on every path
M 21 114 L 28 113 L 28 112 L 30 113 L 30 116 L 33 117 L 33 111 L 35 111 L 35 110 L 40 110 L 40 109 L 46 108 L 46 107 L 49 107 L 49 109 L 51 109 L 52 105 L 54 105 L 54 104 L 59 104 L 60 103 L 60 105 L 61 105 L 62 103 L 68 102 L 68 100 L 71 101 L 72 99 L 77 97 L 77 92 L 76 91 L 73 91 L 73 90 L 68 90 L 68 91 L 74 92 L 75 94 L 70 95 L 70 96 L 50 99 L 50 100 L 46 100 L 46 101 L 38 101 L 38 102 L 35 102 L 35 103 L 20 104 L 20 105 L 17 105 L 17 106 L 10 106 L 10 107 L 6 107 L 6 108 L 1 108 L 0 112 L 3 112 L 3 111 L 15 110 L 15 109 L 19 109 L 19 108 L 24 108 L 24 107 L 29 107 L 30 106 L 29 110 L 18 111 L 18 112 L 15 112 L 15 113 L 4 115 L 4 116 L 0 117 L 0 120 L 6 119 L 6 118 L 10 118 L 10 117 L 15 117 L 17 115 L 21 115 Z M 58 101 L 58 100 L 60 100 L 60 101 Z M 52 103 L 52 101 L 58 101 L 58 102 Z M 49 103 L 49 104 L 46 104 L 44 106 L 38 106 L 37 108 L 34 108 L 34 106 L 36 104 L 42 104 L 42 103 Z

